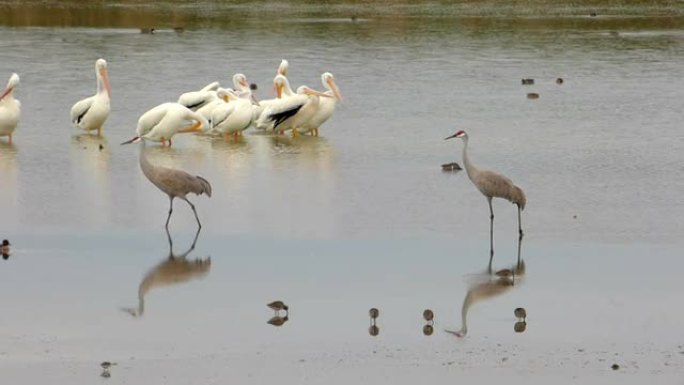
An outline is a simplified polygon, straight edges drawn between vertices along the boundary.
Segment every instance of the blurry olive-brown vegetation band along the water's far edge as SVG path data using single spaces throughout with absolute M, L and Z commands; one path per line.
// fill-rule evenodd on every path
M 595 15 L 595 16 L 594 16 Z M 335 19 L 375 28 L 454 22 L 461 28 L 643 29 L 684 27 L 684 0 L 207 1 L 0 0 L 0 25 L 111 28 L 236 28 L 293 19 Z

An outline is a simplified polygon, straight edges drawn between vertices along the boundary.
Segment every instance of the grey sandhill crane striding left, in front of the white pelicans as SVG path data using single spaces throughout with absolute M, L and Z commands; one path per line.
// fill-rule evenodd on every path
M 190 205 L 192 212 L 195 213 L 197 225 L 202 228 L 202 224 L 197 216 L 197 210 L 195 210 L 195 205 L 188 200 L 186 195 L 188 195 L 188 193 L 194 193 L 195 195 L 207 194 L 208 197 L 211 197 L 211 184 L 209 184 L 209 181 L 201 176 L 193 176 L 182 170 L 153 165 L 147 159 L 144 138 L 135 137 L 121 144 L 135 142 L 142 142 L 140 145 L 140 168 L 142 169 L 143 174 L 145 174 L 153 185 L 157 186 L 158 189 L 169 196 L 170 206 L 169 216 L 166 218 L 166 228 L 168 229 L 169 227 L 169 220 L 171 220 L 171 213 L 173 213 L 174 198 L 182 199 Z

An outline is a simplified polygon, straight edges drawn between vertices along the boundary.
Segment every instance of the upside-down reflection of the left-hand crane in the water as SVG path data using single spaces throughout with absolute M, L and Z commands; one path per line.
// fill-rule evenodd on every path
M 173 253 L 173 240 L 168 229 L 166 236 L 169 241 L 169 255 L 157 266 L 150 269 L 145 278 L 138 285 L 138 307 L 122 308 L 134 317 L 140 317 L 145 312 L 145 295 L 155 287 L 177 285 L 193 279 L 204 278 L 211 269 L 211 257 L 205 259 L 187 259 L 197 243 L 201 229 L 197 229 L 195 239 L 190 248 L 181 254 Z

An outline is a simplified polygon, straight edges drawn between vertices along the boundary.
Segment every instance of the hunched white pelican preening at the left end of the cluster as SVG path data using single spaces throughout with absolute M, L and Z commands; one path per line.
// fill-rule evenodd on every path
M 200 114 L 178 103 L 162 103 L 145 112 L 138 119 L 137 138 L 166 142 L 171 146 L 171 138 L 180 133 L 201 131 L 209 127 L 207 120 Z

